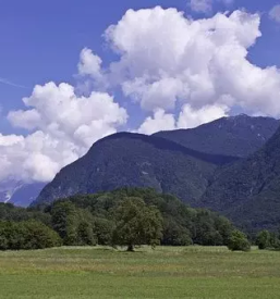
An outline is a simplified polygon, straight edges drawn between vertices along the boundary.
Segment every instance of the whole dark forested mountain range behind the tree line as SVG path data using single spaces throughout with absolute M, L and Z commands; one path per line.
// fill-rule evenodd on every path
M 273 119 L 243 114 L 153 136 L 114 134 L 64 167 L 34 204 L 153 187 L 193 207 L 219 211 L 247 229 L 275 228 L 280 224 L 278 126 Z

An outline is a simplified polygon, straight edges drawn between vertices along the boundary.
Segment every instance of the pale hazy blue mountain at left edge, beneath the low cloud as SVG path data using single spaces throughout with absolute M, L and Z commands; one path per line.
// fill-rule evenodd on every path
M 0 183 L 0 202 L 28 207 L 45 186 L 44 183 L 25 184 L 16 179 L 5 179 Z

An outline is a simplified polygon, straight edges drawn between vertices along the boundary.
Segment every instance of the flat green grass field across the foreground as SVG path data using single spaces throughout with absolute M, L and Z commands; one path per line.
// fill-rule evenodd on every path
M 280 252 L 219 247 L 0 252 L 0 298 L 280 298 Z

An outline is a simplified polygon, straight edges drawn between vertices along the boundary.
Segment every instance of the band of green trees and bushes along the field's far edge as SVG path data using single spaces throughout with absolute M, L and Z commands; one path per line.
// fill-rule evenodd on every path
M 57 246 L 228 246 L 249 241 L 226 217 L 153 189 L 74 196 L 32 209 L 0 204 L 0 250 Z

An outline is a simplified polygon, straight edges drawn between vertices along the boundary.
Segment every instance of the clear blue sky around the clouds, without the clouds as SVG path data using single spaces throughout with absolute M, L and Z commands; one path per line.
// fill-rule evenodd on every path
M 280 66 L 280 25 L 268 18 L 269 10 L 276 4 L 276 0 L 236 0 L 229 7 L 229 10 L 245 8 L 264 14 L 263 37 L 249 52 L 249 60 L 260 66 Z M 77 58 L 84 47 L 94 49 L 109 63 L 112 52 L 106 49 L 105 29 L 117 23 L 127 9 L 155 5 L 174 7 L 194 18 L 204 16 L 193 13 L 184 0 L 1 1 L 0 77 L 26 88 L 0 84 L 0 130 L 14 130 L 3 116 L 9 110 L 22 108 L 22 98 L 29 96 L 36 84 L 73 83 Z M 215 5 L 212 13 L 219 10 L 224 10 L 221 3 Z

